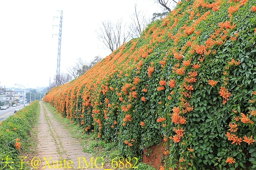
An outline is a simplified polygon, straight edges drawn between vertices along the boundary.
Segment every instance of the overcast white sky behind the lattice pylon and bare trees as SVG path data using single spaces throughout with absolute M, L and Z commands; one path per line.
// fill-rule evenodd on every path
M 120 18 L 131 22 L 134 4 L 152 18 L 162 12 L 154 0 L 1 0 L 0 1 L 0 86 L 47 87 L 56 74 L 58 28 L 62 20 L 60 72 L 81 57 L 90 61 L 96 55 L 106 57 L 95 30 L 104 20 Z M 17 88 L 17 86 L 16 86 Z

